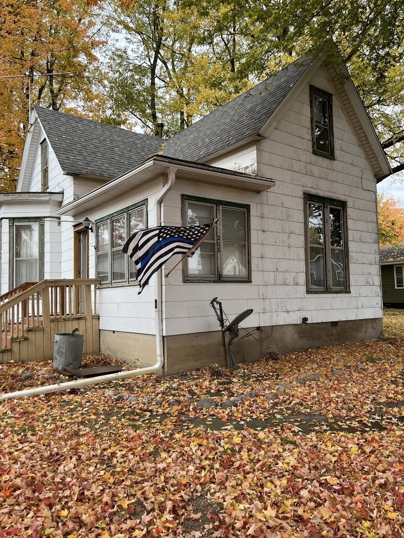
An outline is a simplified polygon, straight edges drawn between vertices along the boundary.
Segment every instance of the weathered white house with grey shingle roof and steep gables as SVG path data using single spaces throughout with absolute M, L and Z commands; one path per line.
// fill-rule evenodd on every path
M 375 193 L 391 168 L 340 69 L 302 58 L 166 141 L 35 107 L 17 193 L 0 195 L 2 293 L 99 278 L 101 351 L 154 364 L 162 338 L 163 374 L 222 363 L 216 296 L 262 328 L 238 360 L 379 337 Z M 215 218 L 137 294 L 135 230 Z

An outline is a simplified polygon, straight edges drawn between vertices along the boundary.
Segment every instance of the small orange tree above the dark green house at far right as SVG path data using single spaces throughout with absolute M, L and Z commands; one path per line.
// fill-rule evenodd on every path
M 404 208 L 399 200 L 387 193 L 378 194 L 380 246 L 404 242 Z

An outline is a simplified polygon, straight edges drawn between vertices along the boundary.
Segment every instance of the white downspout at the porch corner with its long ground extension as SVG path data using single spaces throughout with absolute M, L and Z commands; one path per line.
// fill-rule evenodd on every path
M 174 186 L 176 175 L 176 169 L 169 168 L 168 177 L 169 180 L 162 188 L 160 194 L 157 197 L 155 204 L 156 211 L 156 226 L 161 225 L 161 203 L 165 195 Z M 163 367 L 164 364 L 164 350 L 163 350 L 163 309 L 162 309 L 162 270 L 160 269 L 156 273 L 155 290 L 155 319 L 156 319 L 156 352 L 157 361 L 153 366 L 147 366 L 145 368 L 136 368 L 135 370 L 128 370 L 127 372 L 119 372 L 108 374 L 107 376 L 97 376 L 88 379 L 76 379 L 75 381 L 67 381 L 66 383 L 58 383 L 57 385 L 47 385 L 44 387 L 29 388 L 25 391 L 9 392 L 8 394 L 0 394 L 0 401 L 14 398 L 25 398 L 26 396 L 37 396 L 39 394 L 48 394 L 50 392 L 66 391 L 69 388 L 80 388 L 88 385 L 96 385 L 97 383 L 107 383 L 107 381 L 117 381 L 125 379 L 127 377 L 143 376 L 147 373 L 157 372 Z

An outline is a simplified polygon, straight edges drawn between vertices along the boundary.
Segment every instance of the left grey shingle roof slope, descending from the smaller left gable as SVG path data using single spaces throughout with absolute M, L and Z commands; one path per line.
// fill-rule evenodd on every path
M 161 151 L 161 138 L 47 108 L 35 111 L 64 172 L 114 179 Z

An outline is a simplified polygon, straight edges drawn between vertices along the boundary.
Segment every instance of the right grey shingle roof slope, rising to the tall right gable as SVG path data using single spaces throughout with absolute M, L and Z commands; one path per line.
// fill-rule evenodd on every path
M 259 134 L 310 66 L 302 56 L 166 141 L 163 155 L 198 161 Z

